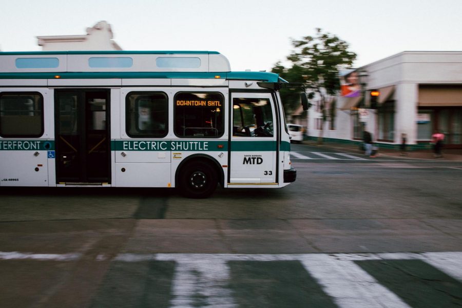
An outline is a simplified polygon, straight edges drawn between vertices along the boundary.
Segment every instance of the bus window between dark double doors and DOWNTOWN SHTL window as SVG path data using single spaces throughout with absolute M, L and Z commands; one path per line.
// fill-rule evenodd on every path
M 162 138 L 168 129 L 164 92 L 130 92 L 126 98 L 126 132 L 130 137 Z

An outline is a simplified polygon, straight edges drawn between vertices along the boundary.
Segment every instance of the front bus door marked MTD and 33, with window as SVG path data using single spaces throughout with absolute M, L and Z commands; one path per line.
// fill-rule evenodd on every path
M 269 93 L 232 94 L 229 183 L 275 183 L 276 114 Z

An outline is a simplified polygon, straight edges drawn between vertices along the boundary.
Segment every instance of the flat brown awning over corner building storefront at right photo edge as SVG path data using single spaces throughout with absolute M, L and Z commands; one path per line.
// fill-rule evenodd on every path
M 419 106 L 462 106 L 462 86 L 420 85 Z

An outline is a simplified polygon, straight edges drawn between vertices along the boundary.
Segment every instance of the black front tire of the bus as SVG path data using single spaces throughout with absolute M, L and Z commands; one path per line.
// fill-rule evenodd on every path
M 207 198 L 217 188 L 217 172 L 206 162 L 190 162 L 180 172 L 179 188 L 185 197 Z

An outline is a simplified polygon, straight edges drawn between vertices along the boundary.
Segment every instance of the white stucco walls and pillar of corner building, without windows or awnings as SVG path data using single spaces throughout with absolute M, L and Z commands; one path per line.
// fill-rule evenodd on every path
M 395 100 L 394 143 L 400 142 L 401 133 L 408 135 L 410 144 L 416 143 L 419 84 L 461 84 L 462 85 L 462 51 L 404 51 L 360 69 L 368 72 L 367 89 L 380 89 L 395 86 L 392 100 Z M 342 98 L 339 98 L 340 107 Z M 374 110 L 375 112 L 375 110 Z M 334 131 L 326 129 L 325 138 L 353 139 L 353 117 L 351 111 L 337 110 Z M 310 136 L 319 136 L 319 131 L 312 129 L 316 112 L 309 113 Z M 366 123 L 366 128 L 377 132 L 375 117 Z M 376 135 L 375 135 L 376 136 Z M 375 138 L 374 136 L 374 138 Z

